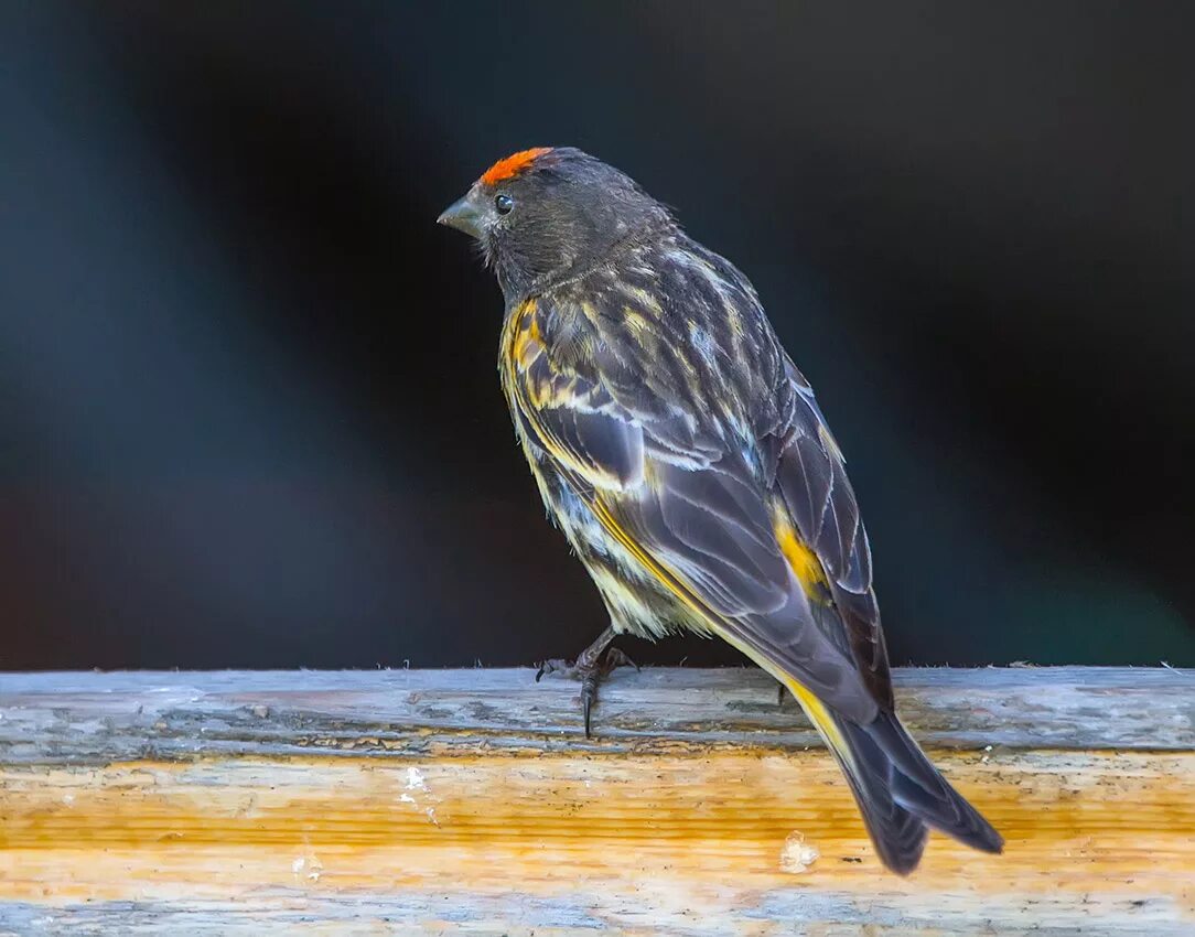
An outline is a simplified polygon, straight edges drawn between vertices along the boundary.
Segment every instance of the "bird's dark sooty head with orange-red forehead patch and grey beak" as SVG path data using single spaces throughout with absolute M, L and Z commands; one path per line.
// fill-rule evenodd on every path
M 583 275 L 620 245 L 672 226 L 630 177 L 572 147 L 535 147 L 495 163 L 441 225 L 477 238 L 508 298 Z

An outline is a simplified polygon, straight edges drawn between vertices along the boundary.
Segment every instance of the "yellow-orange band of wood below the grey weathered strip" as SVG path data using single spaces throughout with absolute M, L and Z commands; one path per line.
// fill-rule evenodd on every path
M 940 913 L 962 932 L 980 910 L 1024 925 L 1035 902 L 1046 923 L 1130 924 L 1141 901 L 1195 927 L 1195 754 L 937 760 L 1007 850 L 934 837 L 908 880 L 881 869 L 821 751 L 8 768 L 0 901 L 234 901 L 268 921 L 313 896 L 368 899 L 413 927 L 437 901 L 501 923 L 537 899 L 577 926 L 670 932 L 694 914 L 694 932 L 756 933 L 768 901 L 814 899 L 829 925 L 878 894 L 894 926 Z

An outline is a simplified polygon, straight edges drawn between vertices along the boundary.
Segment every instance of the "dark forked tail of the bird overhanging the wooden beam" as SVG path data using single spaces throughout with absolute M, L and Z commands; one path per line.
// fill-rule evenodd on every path
M 1000 852 L 1004 838 L 938 773 L 894 714 L 881 712 L 866 725 L 838 715 L 833 719 L 847 747 L 835 755 L 884 865 L 900 875 L 913 871 L 926 826 L 973 849 Z

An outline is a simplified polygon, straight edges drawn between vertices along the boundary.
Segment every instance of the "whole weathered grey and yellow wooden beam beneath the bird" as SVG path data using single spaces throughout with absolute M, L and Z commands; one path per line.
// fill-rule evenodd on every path
M 1195 932 L 1195 675 L 903 670 L 1007 838 L 875 861 L 755 670 L 0 675 L 0 933 Z

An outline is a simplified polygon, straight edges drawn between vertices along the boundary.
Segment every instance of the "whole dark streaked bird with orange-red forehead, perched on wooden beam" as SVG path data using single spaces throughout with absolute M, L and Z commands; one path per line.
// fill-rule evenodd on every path
M 721 638 L 797 699 L 888 869 L 913 871 L 930 828 L 1000 852 L 896 715 L 842 451 L 750 281 L 574 147 L 498 160 L 437 220 L 497 277 L 515 435 L 609 613 L 537 679 L 582 680 L 588 735 L 617 635 Z

